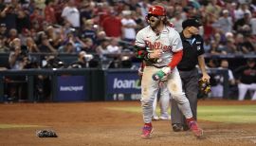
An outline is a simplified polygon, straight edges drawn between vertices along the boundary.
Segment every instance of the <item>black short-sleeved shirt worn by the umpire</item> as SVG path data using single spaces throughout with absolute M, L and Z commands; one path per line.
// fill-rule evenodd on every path
M 197 57 L 205 53 L 204 41 L 200 35 L 185 38 L 183 31 L 179 35 L 183 45 L 183 57 L 177 68 L 181 71 L 190 71 L 198 64 Z

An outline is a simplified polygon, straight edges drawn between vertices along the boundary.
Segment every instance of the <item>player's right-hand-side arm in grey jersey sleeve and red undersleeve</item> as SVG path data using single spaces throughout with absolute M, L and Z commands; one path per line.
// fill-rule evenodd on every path
M 182 41 L 177 31 L 175 31 L 175 35 L 173 37 L 174 37 L 174 42 L 172 46 L 172 51 L 174 56 L 171 63 L 168 64 L 168 66 L 170 66 L 171 69 L 173 69 L 181 61 L 183 56 Z

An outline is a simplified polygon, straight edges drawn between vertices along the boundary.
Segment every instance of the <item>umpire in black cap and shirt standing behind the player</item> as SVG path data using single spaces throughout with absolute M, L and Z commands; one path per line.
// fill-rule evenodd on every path
M 177 65 L 179 74 L 183 84 L 183 90 L 186 97 L 190 101 L 192 108 L 192 116 L 197 119 L 197 94 L 198 94 L 198 69 L 195 67 L 198 64 L 202 72 L 202 80 L 210 82 L 210 76 L 206 72 L 204 59 L 204 42 L 199 35 L 199 27 L 202 26 L 197 19 L 187 19 L 182 23 L 183 30 L 180 32 L 180 38 L 183 45 L 183 57 Z M 180 112 L 177 102 L 172 100 L 172 126 L 174 132 L 189 130 L 186 120 Z

